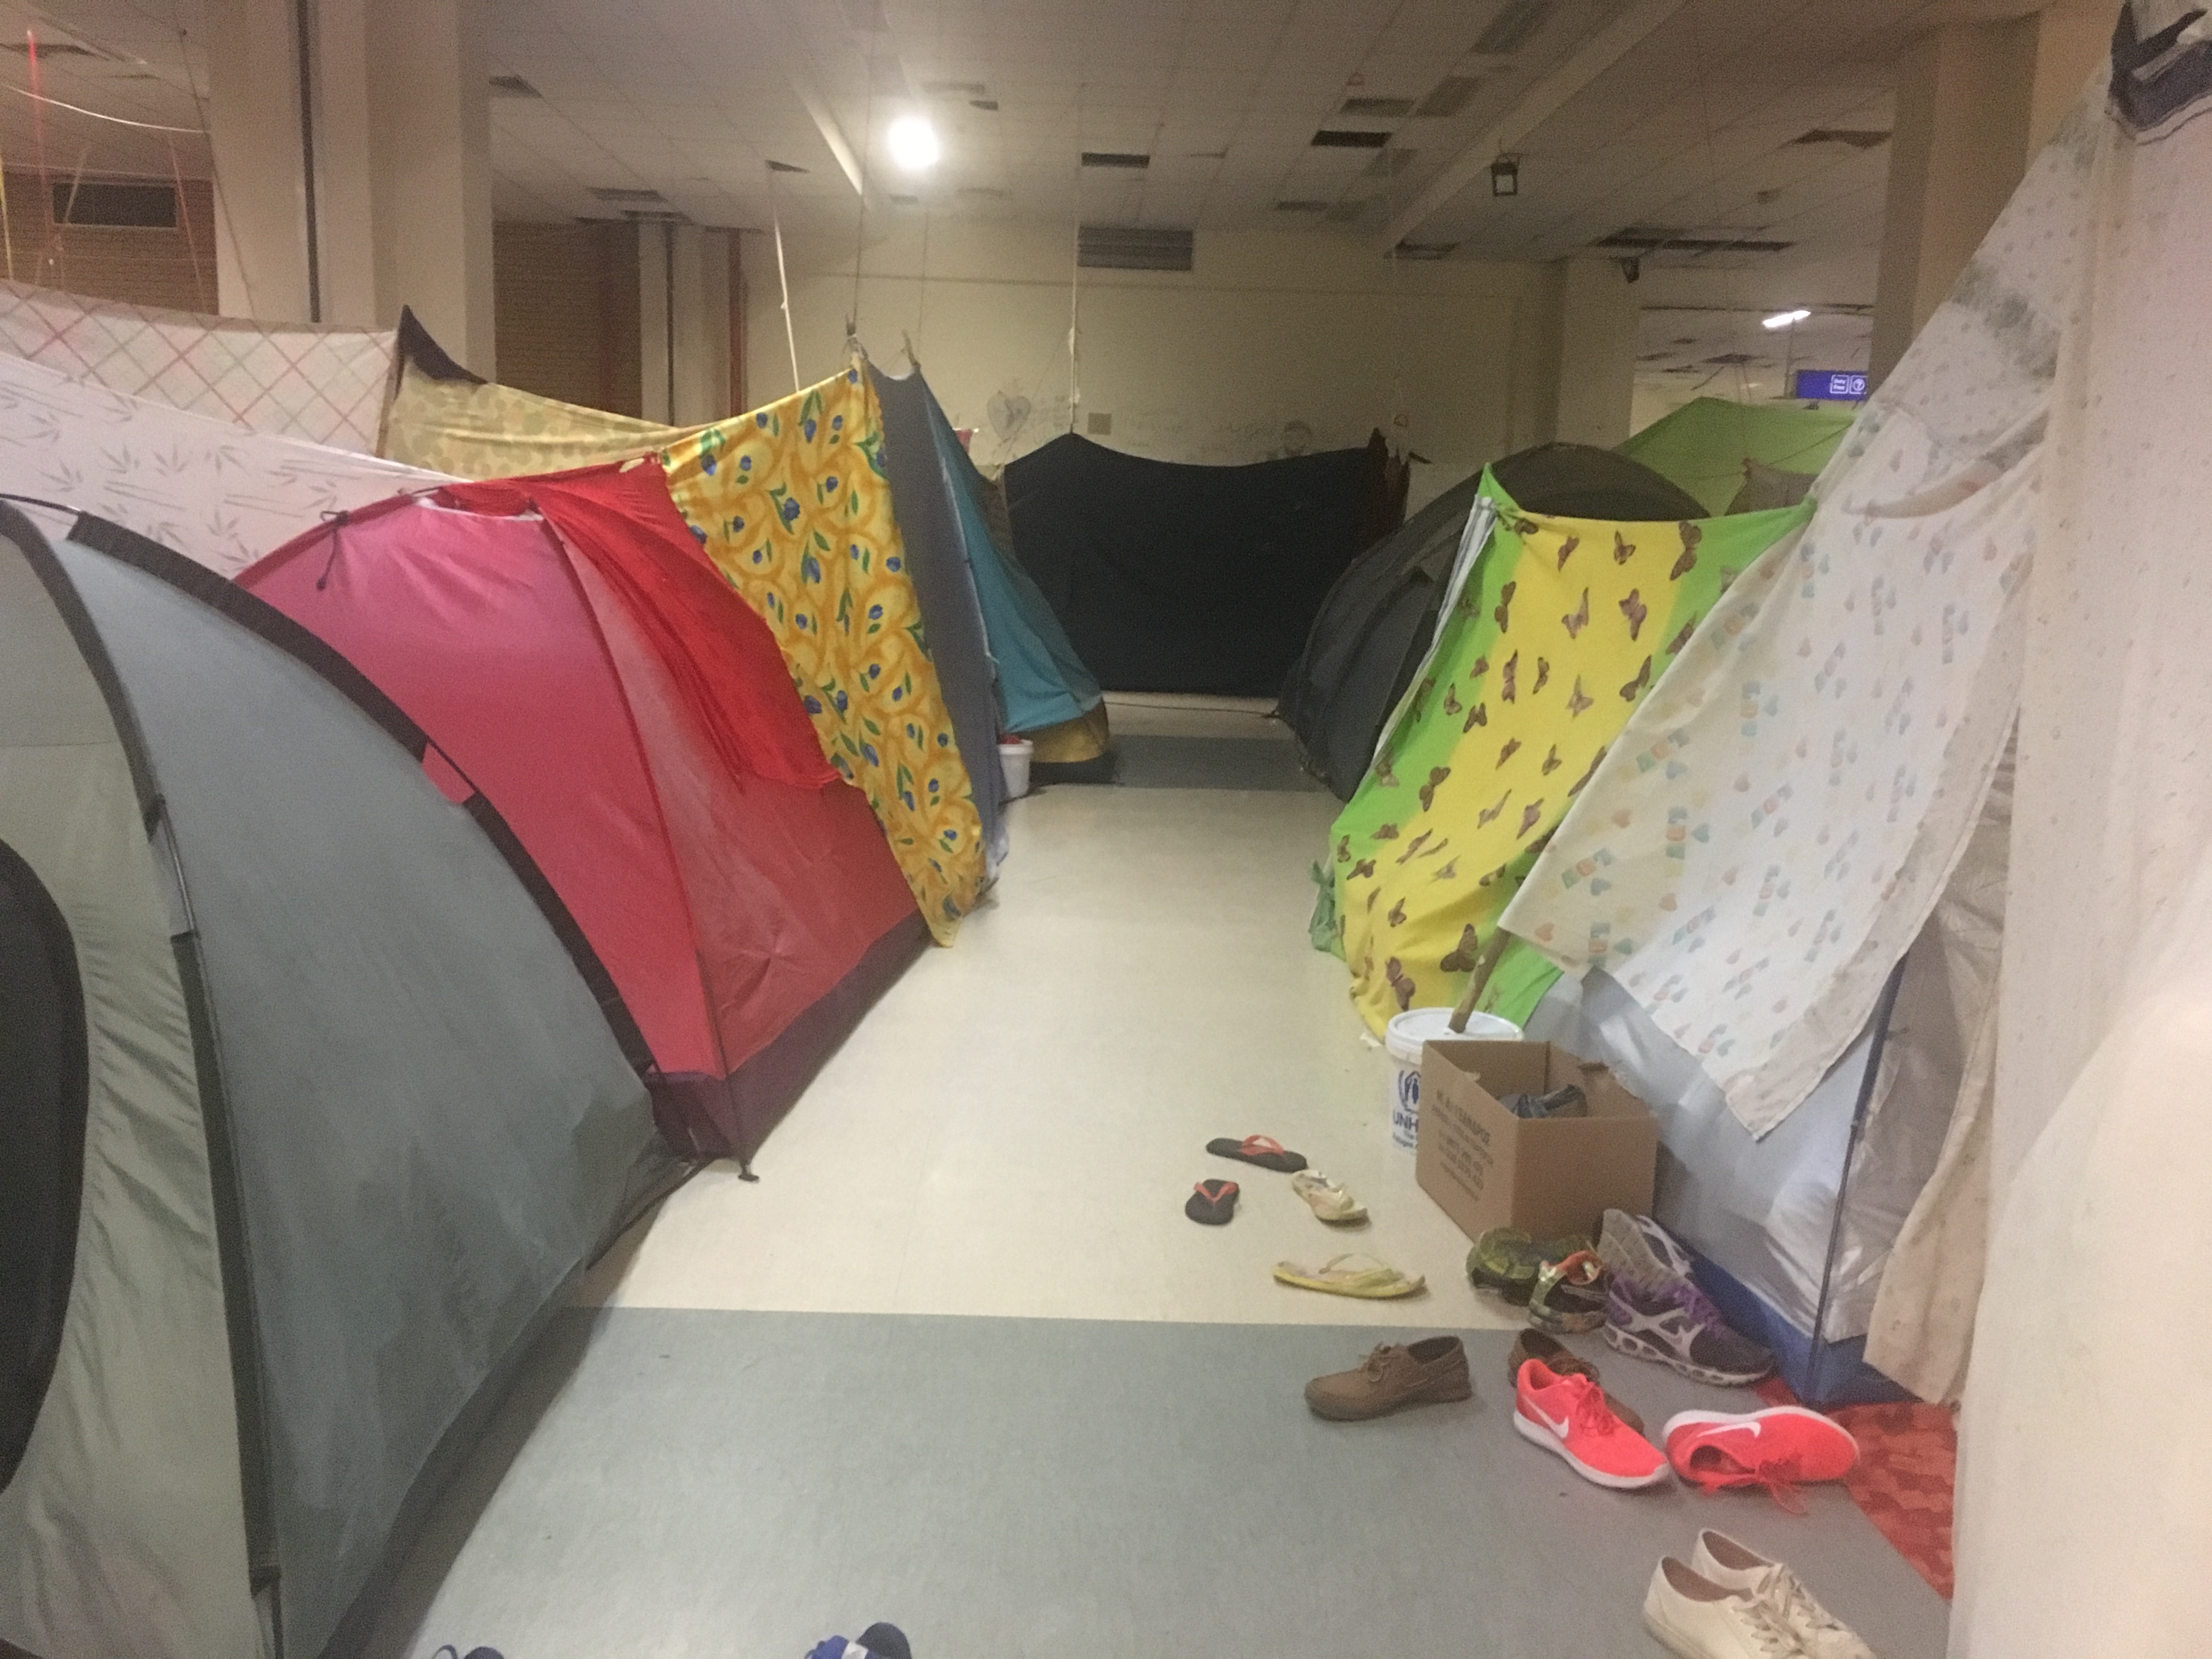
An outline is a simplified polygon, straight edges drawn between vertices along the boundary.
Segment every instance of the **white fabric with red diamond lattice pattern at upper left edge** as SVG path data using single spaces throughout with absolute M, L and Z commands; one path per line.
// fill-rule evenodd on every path
M 0 354 L 250 431 L 372 456 L 394 334 L 166 312 L 0 281 Z

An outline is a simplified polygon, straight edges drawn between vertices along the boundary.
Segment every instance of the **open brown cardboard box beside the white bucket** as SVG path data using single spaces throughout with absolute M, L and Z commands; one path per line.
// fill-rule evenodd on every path
M 1586 1117 L 1515 1117 L 1500 1095 L 1579 1084 Z M 1613 1071 L 1548 1042 L 1431 1042 L 1413 1175 L 1469 1239 L 1524 1228 L 1597 1237 L 1606 1210 L 1650 1214 L 1659 1119 Z

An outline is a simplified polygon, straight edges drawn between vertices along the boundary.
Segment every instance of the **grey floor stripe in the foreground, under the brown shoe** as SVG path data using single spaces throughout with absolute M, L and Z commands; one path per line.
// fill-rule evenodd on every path
M 1376 1338 L 568 1314 L 374 1652 L 801 1659 L 891 1619 L 918 1659 L 1652 1659 L 1652 1562 L 1721 1526 L 1794 1562 L 1885 1659 L 1942 1655 L 1944 1604 L 1840 1489 L 1805 1517 L 1608 1493 L 1522 1442 L 1511 1334 L 1467 1334 L 1467 1405 L 1314 1420 L 1305 1378 Z M 1655 1422 L 1747 1398 L 1608 1358 Z

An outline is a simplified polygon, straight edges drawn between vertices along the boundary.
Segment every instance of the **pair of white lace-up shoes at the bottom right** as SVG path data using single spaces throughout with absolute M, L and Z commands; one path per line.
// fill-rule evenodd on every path
M 1644 1626 L 1681 1659 L 1876 1659 L 1796 1573 L 1710 1528 L 1652 1568 Z

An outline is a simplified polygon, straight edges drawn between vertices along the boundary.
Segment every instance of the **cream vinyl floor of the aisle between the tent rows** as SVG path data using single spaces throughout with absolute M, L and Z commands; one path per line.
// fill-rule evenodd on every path
M 1252 706 L 1115 706 L 1161 737 L 1276 737 Z M 1504 1327 L 1467 1239 L 1389 1139 L 1389 1062 L 1307 945 L 1321 792 L 1057 785 L 960 940 L 929 951 L 754 1161 L 695 1177 L 586 1303 L 872 1314 Z M 1371 1210 L 1325 1228 L 1290 1177 L 1208 1157 L 1272 1135 Z M 1243 1188 L 1201 1228 L 1203 1177 Z M 1427 1294 L 1352 1301 L 1276 1261 L 1367 1252 Z

